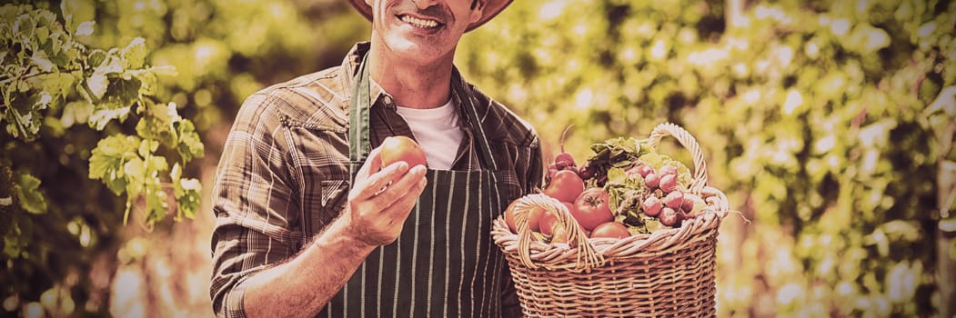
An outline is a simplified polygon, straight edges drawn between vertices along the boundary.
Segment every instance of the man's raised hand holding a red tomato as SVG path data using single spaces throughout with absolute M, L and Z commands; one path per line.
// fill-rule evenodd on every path
M 424 190 L 424 165 L 399 161 L 381 167 L 380 148 L 369 153 L 349 191 L 348 233 L 372 246 L 391 244 Z

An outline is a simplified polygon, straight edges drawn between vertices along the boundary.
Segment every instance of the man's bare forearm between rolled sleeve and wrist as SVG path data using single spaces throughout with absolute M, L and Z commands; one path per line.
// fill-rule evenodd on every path
M 325 307 L 376 247 L 350 239 L 344 224 L 330 223 L 292 260 L 246 280 L 246 316 L 311 317 Z

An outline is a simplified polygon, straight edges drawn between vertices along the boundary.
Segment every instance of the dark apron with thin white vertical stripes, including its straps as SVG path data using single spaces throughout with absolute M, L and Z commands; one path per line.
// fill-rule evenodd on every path
M 368 70 L 354 81 L 349 112 L 352 179 L 368 156 Z M 461 96 L 467 96 L 458 92 Z M 428 169 L 428 183 L 392 244 L 365 259 L 319 317 L 499 317 L 508 265 L 490 239 L 508 194 L 470 98 L 475 143 L 489 170 Z

